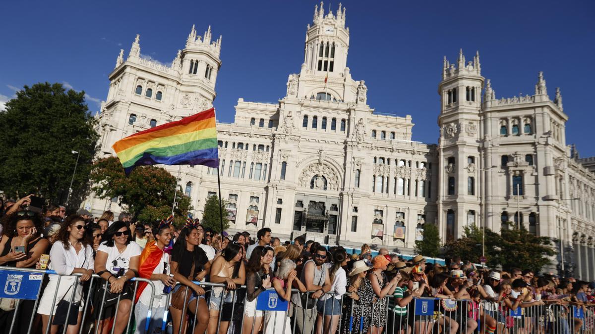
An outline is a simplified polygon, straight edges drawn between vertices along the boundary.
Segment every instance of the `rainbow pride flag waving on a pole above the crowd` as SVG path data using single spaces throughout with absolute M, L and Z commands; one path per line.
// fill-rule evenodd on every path
M 118 140 L 112 148 L 126 175 L 142 165 L 219 166 L 215 109 L 140 131 Z

